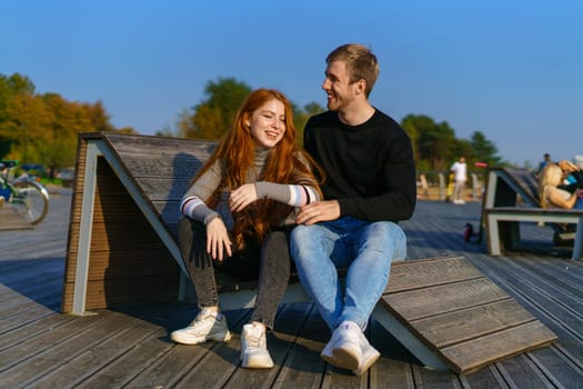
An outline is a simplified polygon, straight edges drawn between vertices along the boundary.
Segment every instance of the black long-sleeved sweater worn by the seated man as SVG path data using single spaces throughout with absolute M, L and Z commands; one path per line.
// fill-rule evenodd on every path
M 366 122 L 346 126 L 338 113 L 310 118 L 304 148 L 326 172 L 324 199 L 340 203 L 341 216 L 369 221 L 406 220 L 416 201 L 411 140 L 376 110 Z

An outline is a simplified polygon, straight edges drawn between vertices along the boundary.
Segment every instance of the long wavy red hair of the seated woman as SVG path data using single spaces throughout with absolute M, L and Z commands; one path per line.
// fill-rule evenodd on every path
M 251 130 L 244 123 L 251 120 L 255 110 L 272 99 L 281 101 L 284 106 L 285 132 L 283 139 L 270 149 L 263 172 L 259 179 L 277 183 L 313 186 L 314 182 L 319 181 L 310 167 L 316 170 L 318 177 L 324 177 L 323 170 L 316 162 L 295 144 L 296 131 L 293 124 L 292 106 L 288 98 L 273 89 L 258 89 L 245 98 L 234 117 L 231 129 L 223 136 L 217 150 L 197 174 L 197 178 L 203 174 L 217 160 L 222 162 L 221 183 L 209 199 L 204 199 L 210 208 L 215 208 L 220 203 L 224 190 L 237 189 L 247 182 L 248 171 L 252 169 L 255 158 L 255 143 L 251 137 Z M 301 158 L 308 161 L 310 167 L 306 167 Z M 320 190 L 318 187 L 316 189 Z M 320 193 L 320 196 L 322 194 Z M 293 211 L 291 206 L 260 199 L 245 207 L 244 210 L 233 212 L 235 246 L 242 248 L 245 236 L 255 237 L 261 242 L 270 227 L 278 226 L 291 211 Z

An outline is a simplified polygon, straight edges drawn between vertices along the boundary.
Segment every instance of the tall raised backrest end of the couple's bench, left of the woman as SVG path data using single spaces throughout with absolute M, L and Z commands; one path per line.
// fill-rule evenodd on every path
M 82 133 L 61 310 L 175 300 L 175 213 L 210 142 Z M 201 150 L 202 149 L 202 150 Z M 178 187 L 177 187 L 178 184 Z

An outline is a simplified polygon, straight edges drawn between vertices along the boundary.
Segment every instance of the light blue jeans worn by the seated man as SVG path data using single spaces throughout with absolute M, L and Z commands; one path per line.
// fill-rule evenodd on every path
M 298 226 L 290 247 L 300 282 L 331 330 L 344 320 L 364 330 L 389 281 L 391 261 L 406 256 L 405 233 L 396 223 L 351 217 Z M 344 287 L 341 268 L 348 269 Z

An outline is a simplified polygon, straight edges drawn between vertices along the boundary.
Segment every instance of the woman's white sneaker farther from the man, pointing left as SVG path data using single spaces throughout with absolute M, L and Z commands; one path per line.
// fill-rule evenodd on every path
M 222 313 L 203 308 L 189 327 L 173 331 L 170 338 L 177 343 L 199 345 L 207 340 L 229 341 L 231 332 Z

